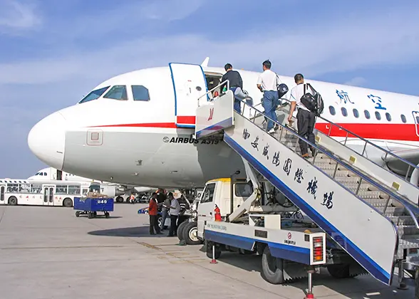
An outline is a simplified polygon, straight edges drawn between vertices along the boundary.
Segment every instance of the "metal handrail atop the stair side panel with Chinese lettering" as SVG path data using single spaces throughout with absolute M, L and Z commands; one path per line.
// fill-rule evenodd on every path
M 284 130 L 287 130 L 288 132 L 291 133 L 291 135 L 296 136 L 299 140 L 303 140 L 303 142 L 306 142 L 308 145 L 310 145 L 311 147 L 314 147 L 317 150 L 317 153 L 322 152 L 323 154 L 325 154 L 327 157 L 329 157 L 329 159 L 333 159 L 336 162 L 336 167 L 335 170 L 333 172 L 333 177 L 331 177 L 329 174 L 327 174 L 326 172 L 324 172 L 323 169 L 320 169 L 319 167 L 316 167 L 316 165 L 314 164 L 317 154 L 314 155 L 313 157 L 313 162 L 311 162 L 311 165 L 313 165 L 314 167 L 316 167 L 317 169 L 319 169 L 321 172 L 323 172 L 324 174 L 326 174 L 326 176 L 331 177 L 331 179 L 334 180 L 334 178 L 336 177 L 336 172 L 338 170 L 338 164 L 341 164 L 343 167 L 345 167 L 346 169 L 348 169 L 349 171 L 353 172 L 354 174 L 356 174 L 358 177 L 360 177 L 360 181 L 358 183 L 358 188 L 356 189 L 356 192 L 352 192 L 351 189 L 348 189 L 346 186 L 344 186 L 343 184 L 341 184 L 341 182 L 336 182 L 338 184 L 341 185 L 341 187 L 343 187 L 344 189 L 346 189 L 348 192 L 350 192 L 351 194 L 355 195 L 359 200 L 363 201 L 365 204 L 368 204 L 367 201 L 363 200 L 361 197 L 358 196 L 358 192 L 359 189 L 361 188 L 361 183 L 362 180 L 368 182 L 368 184 L 371 184 L 373 187 L 376 187 L 376 189 L 378 189 L 381 192 L 384 192 L 386 194 L 389 195 L 387 202 L 386 202 L 386 206 L 384 206 L 383 212 L 381 213 L 380 211 L 378 211 L 378 209 L 376 209 L 374 206 L 371 206 L 371 204 L 368 204 L 368 206 L 371 206 L 372 209 L 375 209 L 376 211 L 378 211 L 378 213 L 381 213 L 382 216 L 386 217 L 386 209 L 387 206 L 390 202 L 390 198 L 395 199 L 395 201 L 398 201 L 398 203 L 400 203 L 407 211 L 408 214 L 410 215 L 410 217 L 413 219 L 413 222 L 415 223 L 415 226 L 417 229 L 419 229 L 419 224 L 418 224 L 418 219 L 416 218 L 415 214 L 419 215 L 419 207 L 418 206 L 414 206 L 412 203 L 410 203 L 410 201 L 408 201 L 407 199 L 403 199 L 403 197 L 401 197 L 399 194 L 396 194 L 395 192 L 391 191 L 388 188 L 383 187 L 381 184 L 378 184 L 377 182 L 373 181 L 373 179 L 366 177 L 365 174 L 361 173 L 360 171 L 358 171 L 358 169 L 354 169 L 350 164 L 347 164 L 346 162 L 341 161 L 340 159 L 336 158 L 333 154 L 330 154 L 329 152 L 325 151 L 323 148 L 318 147 L 317 145 L 311 143 L 309 140 L 306 140 L 306 138 L 301 137 L 300 135 L 298 135 L 297 132 L 295 132 L 294 130 L 290 129 L 289 127 L 286 127 L 284 125 L 282 125 L 281 123 L 272 120 L 271 117 L 267 116 L 264 114 L 264 112 L 254 108 L 252 105 L 249 105 L 248 103 L 244 102 L 243 100 L 240 100 L 242 103 L 244 103 L 244 105 L 249 106 L 249 109 L 254 109 L 257 112 L 261 113 L 262 115 L 264 115 L 264 117 L 266 117 L 267 119 L 271 120 L 272 122 L 274 122 L 276 125 L 279 125 L 279 127 L 281 127 L 281 135 L 279 136 L 279 139 L 276 138 L 275 136 L 274 139 L 276 139 L 277 141 L 281 142 L 281 137 L 282 134 L 284 132 Z M 234 111 L 235 113 L 238 113 L 237 111 Z M 244 109 L 242 110 L 241 113 L 239 113 L 240 115 L 242 115 L 242 117 L 244 117 L 245 119 L 249 120 L 246 116 L 244 116 Z M 256 113 L 255 113 L 256 115 Z M 256 117 L 253 118 L 252 120 L 249 120 L 250 122 L 254 123 L 254 120 L 256 119 Z M 255 124 L 256 125 L 256 124 Z M 259 125 L 257 125 L 257 127 L 259 127 Z M 259 129 L 263 130 L 261 127 L 259 127 Z M 282 144 L 282 142 L 281 142 Z M 284 144 L 282 144 L 284 145 Z M 285 145 L 286 146 L 286 145 Z M 299 142 L 296 142 L 296 147 L 294 148 L 294 152 L 296 152 L 296 148 L 299 146 Z M 288 147 L 288 146 L 286 146 Z M 290 147 L 288 147 L 290 150 L 292 150 Z M 304 159 L 304 158 L 302 158 Z M 307 159 L 307 162 L 309 162 L 309 159 Z M 415 212 L 414 212 L 415 211 Z M 386 217 L 388 218 L 388 217 Z M 390 220 L 390 219 L 389 219 Z

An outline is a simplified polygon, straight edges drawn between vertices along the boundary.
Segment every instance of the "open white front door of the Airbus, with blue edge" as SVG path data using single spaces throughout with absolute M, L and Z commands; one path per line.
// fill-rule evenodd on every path
M 169 63 L 175 90 L 177 127 L 195 127 L 198 98 L 207 93 L 207 80 L 201 65 Z

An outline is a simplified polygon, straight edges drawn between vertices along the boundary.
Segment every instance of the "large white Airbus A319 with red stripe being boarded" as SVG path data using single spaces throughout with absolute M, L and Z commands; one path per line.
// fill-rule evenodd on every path
M 222 140 L 192 137 L 197 98 L 218 85 L 225 73 L 207 63 L 208 58 L 202 65 L 170 63 L 110 78 L 76 105 L 38 122 L 29 132 L 29 147 L 51 167 L 123 184 L 200 187 L 237 169 L 244 173 L 242 159 Z M 260 73 L 239 73 L 257 105 L 262 99 L 257 89 Z M 294 78 L 279 78 L 289 90 L 294 87 Z M 322 117 L 419 163 L 419 97 L 305 81 L 324 99 Z M 320 119 L 316 128 L 329 132 L 329 124 Z M 346 132 L 332 130 L 331 136 L 341 140 Z M 351 138 L 346 144 L 359 146 Z M 407 171 L 391 159 L 383 161 L 374 147 L 368 147 L 367 154 L 399 174 Z

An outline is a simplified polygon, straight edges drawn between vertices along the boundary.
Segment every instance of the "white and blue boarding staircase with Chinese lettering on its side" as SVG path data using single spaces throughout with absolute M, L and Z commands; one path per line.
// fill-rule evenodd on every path
M 195 137 L 222 132 L 227 145 L 381 282 L 390 285 L 396 264 L 402 271 L 406 263 L 417 265 L 406 252 L 419 248 L 418 187 L 321 132 L 316 145 L 302 139 L 316 149 L 305 159 L 292 128 L 278 122 L 270 135 L 261 111 L 243 102 L 239 114 L 233 103 L 228 90 L 200 104 Z

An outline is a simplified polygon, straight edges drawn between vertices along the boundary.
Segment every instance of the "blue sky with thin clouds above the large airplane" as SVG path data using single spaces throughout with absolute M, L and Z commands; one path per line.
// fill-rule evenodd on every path
M 0 177 L 44 167 L 31 127 L 113 75 L 169 62 L 419 95 L 418 1 L 0 0 Z

